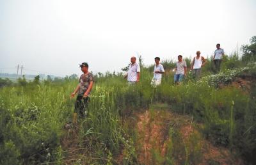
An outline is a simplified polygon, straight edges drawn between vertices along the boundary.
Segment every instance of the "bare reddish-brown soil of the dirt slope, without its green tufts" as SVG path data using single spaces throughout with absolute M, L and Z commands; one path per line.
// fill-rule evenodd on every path
M 193 123 L 193 120 L 191 120 L 189 116 L 173 114 L 170 113 L 170 111 L 145 111 L 144 113 L 137 113 L 136 117 L 138 129 L 136 147 L 138 162 L 140 164 L 162 164 L 164 162 L 154 162 L 152 151 L 160 153 L 163 159 L 167 156 L 168 142 L 172 140 L 171 137 L 168 137 L 170 123 L 172 123 L 172 126 L 174 125 L 174 127 L 176 127 L 181 135 L 181 141 L 183 141 L 184 145 L 188 146 L 188 148 L 189 146 L 193 148 L 194 145 L 190 137 L 195 134 L 199 137 L 196 142 L 200 143 L 198 146 L 200 146 L 199 150 L 202 158 L 198 159 L 200 162 L 197 164 L 243 164 L 241 159 L 232 156 L 228 148 L 214 146 L 209 141 L 205 140 L 198 129 L 196 129 L 197 124 Z M 189 152 L 193 154 L 192 149 Z M 174 158 L 174 164 L 182 163 L 182 159 L 184 159 L 184 155 L 177 155 Z

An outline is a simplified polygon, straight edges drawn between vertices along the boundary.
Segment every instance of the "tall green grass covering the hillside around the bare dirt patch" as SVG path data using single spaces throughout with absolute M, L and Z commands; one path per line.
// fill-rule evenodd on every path
M 174 67 L 172 61 L 164 65 Z M 92 163 L 115 164 L 119 154 L 124 154 L 125 164 L 138 163 L 134 149 L 136 136 L 132 135 L 136 132 L 127 129 L 129 126 L 124 121 L 133 117 L 132 114 L 138 109 L 152 107 L 158 102 L 168 104 L 175 113 L 193 116 L 196 122 L 204 125 L 202 132 L 205 138 L 216 145 L 237 150 L 249 160 L 256 150 L 256 88 L 252 86 L 248 93 L 232 86 L 220 88 L 219 84 L 228 84 L 236 76 L 253 78 L 255 67 L 234 67 L 245 66 L 237 56 L 227 58 L 221 68 L 224 72 L 217 75 L 212 75 L 211 63 L 207 65 L 203 70 L 204 78 L 193 81 L 188 75 L 180 86 L 173 83 L 174 73 L 168 72 L 163 75 L 161 86 L 152 88 L 150 67 L 141 68 L 141 81 L 134 86 L 128 86 L 120 73 L 95 75 L 88 116 L 79 122 L 79 145 L 89 148 L 88 153 L 95 158 Z M 226 81 L 221 77 L 230 78 Z M 62 163 L 61 157 L 65 156 L 65 152 L 60 145 L 61 130 L 65 123 L 71 121 L 75 100 L 70 100 L 70 93 L 76 85 L 76 80 L 66 80 L 0 89 L 1 164 Z M 169 134 L 174 141 L 170 141 L 168 152 L 176 154 L 179 148 L 175 149 L 175 144 L 179 134 L 171 130 Z M 188 148 L 193 146 L 184 146 L 185 154 Z M 193 157 L 187 156 L 185 162 L 188 163 L 188 159 Z M 168 162 L 173 162 L 173 159 L 168 159 Z

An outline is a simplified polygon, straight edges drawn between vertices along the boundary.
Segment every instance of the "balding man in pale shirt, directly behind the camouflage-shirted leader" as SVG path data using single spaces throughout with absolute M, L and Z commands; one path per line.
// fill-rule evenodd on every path
M 136 57 L 131 58 L 131 63 L 129 64 L 128 72 L 125 75 L 128 84 L 136 84 L 140 81 L 140 65 L 136 63 Z

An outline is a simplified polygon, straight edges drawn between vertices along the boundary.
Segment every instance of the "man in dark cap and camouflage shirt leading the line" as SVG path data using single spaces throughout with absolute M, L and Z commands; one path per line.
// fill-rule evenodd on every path
M 82 63 L 80 67 L 83 74 L 80 76 L 79 84 L 71 94 L 71 97 L 74 98 L 77 93 L 75 114 L 78 114 L 79 118 L 84 118 L 87 114 L 86 109 L 88 108 L 90 91 L 93 86 L 93 75 L 88 71 L 88 63 Z

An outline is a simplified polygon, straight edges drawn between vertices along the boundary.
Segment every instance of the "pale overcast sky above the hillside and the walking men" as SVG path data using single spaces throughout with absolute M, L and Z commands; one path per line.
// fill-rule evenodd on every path
M 25 74 L 80 74 L 145 64 L 177 55 L 211 56 L 216 43 L 227 54 L 256 35 L 255 0 L 0 0 L 0 69 Z

